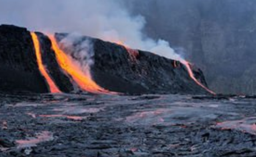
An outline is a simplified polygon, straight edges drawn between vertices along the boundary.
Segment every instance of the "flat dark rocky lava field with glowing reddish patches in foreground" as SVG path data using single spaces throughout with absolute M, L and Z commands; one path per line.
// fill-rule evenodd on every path
M 253 157 L 254 97 L 0 95 L 1 157 Z

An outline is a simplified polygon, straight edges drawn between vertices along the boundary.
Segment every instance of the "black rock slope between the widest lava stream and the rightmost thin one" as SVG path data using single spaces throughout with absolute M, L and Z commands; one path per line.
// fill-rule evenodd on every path
M 142 93 L 204 93 L 188 76 L 187 69 L 182 64 L 174 68 L 173 60 L 141 50 L 136 61 L 133 61 L 126 48 L 100 40 L 95 41 L 93 74 L 101 86 L 108 87 L 115 82 L 113 90 L 121 89 L 120 92 L 133 93 L 141 90 Z M 101 81 L 103 78 L 109 78 L 109 82 Z M 204 80 L 203 75 L 198 78 Z M 136 89 L 138 87 L 140 89 Z

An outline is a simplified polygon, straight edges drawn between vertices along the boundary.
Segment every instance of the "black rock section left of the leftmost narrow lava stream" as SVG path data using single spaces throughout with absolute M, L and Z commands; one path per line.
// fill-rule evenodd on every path
M 48 92 L 30 32 L 25 28 L 0 26 L 0 91 Z

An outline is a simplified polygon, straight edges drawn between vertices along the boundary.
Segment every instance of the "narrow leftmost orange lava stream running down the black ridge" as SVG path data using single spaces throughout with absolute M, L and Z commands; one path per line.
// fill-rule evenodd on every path
M 41 74 L 44 76 L 44 78 L 46 79 L 49 87 L 50 87 L 50 91 L 51 93 L 62 93 L 58 87 L 55 85 L 54 81 L 52 80 L 52 78 L 48 75 L 46 68 L 44 67 L 44 64 L 42 62 L 42 56 L 41 56 L 41 51 L 40 51 L 40 43 L 38 40 L 38 37 L 36 35 L 36 33 L 31 32 L 31 37 L 34 43 L 34 47 L 35 47 L 35 51 L 36 51 L 36 60 L 38 63 L 38 67 L 39 70 L 41 72 Z

